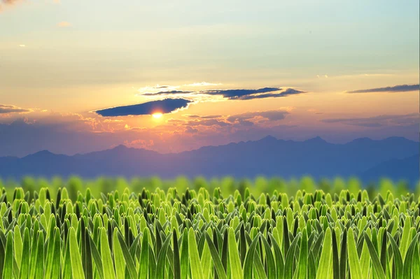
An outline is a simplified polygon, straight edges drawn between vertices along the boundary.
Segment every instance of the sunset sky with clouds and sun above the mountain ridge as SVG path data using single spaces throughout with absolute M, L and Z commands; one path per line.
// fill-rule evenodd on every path
M 419 140 L 419 1 L 0 0 L 0 156 Z

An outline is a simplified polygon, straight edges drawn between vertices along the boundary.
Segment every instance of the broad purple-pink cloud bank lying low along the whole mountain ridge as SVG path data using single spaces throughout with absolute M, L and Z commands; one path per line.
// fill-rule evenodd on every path
M 134 117 L 105 118 L 71 113 L 29 113 L 25 116 L 27 118 L 11 121 L 10 118 L 0 117 L 0 156 L 25 156 L 39 150 L 75 154 L 104 150 L 120 144 L 158 152 L 180 152 L 206 145 L 258 140 L 267 135 L 299 141 L 321 136 L 332 142 L 346 142 L 363 136 L 405 136 L 414 141 L 419 138 L 418 113 L 342 117 L 325 120 L 337 124 L 318 125 L 301 122 L 299 110 L 290 113 L 288 108 L 279 108 L 237 115 L 189 117 L 177 114 L 171 115 L 177 119 L 171 118 L 147 128 L 138 127 L 141 123 Z M 374 127 L 372 123 L 381 126 L 376 124 Z M 125 129 L 126 124 L 129 129 Z

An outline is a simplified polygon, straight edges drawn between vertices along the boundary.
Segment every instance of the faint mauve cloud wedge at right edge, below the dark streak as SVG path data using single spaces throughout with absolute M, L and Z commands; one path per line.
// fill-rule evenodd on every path
M 419 114 L 411 113 L 407 115 L 378 115 L 374 117 L 330 118 L 321 121 L 324 123 L 341 123 L 369 128 L 409 126 L 413 124 L 419 124 Z

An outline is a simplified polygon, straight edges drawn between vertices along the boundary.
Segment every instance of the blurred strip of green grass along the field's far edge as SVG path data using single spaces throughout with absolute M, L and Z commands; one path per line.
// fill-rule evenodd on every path
M 405 195 L 407 192 L 414 192 L 416 198 L 420 196 L 420 183 L 410 187 L 409 184 L 403 181 L 393 182 L 388 179 L 382 179 L 377 183 L 363 185 L 357 178 L 350 178 L 349 180 L 342 178 L 314 180 L 309 176 L 292 180 L 265 178 L 262 176 L 255 178 L 255 180 L 238 180 L 232 177 L 213 178 L 210 180 L 202 177 L 188 179 L 184 176 L 179 176 L 174 180 L 162 180 L 159 177 L 132 178 L 131 180 L 118 177 L 100 177 L 89 180 L 78 176 L 71 176 L 68 179 L 54 177 L 48 180 L 27 176 L 20 181 L 0 179 L 0 189 L 1 187 L 6 189 L 6 193 L 10 198 L 13 196 L 15 187 L 22 187 L 25 192 L 29 191 L 31 195 L 33 195 L 34 191 L 39 192 L 39 189 L 42 187 L 48 187 L 52 195 L 56 194 L 59 187 L 66 187 L 69 198 L 72 200 L 76 200 L 79 191 L 85 193 L 87 188 L 90 188 L 94 196 L 99 196 L 101 192 L 108 193 L 115 190 L 123 192 L 125 188 L 139 193 L 144 188 L 149 190 L 159 188 L 167 191 L 169 187 L 176 187 L 180 192 L 184 192 L 186 189 L 198 190 L 200 187 L 205 187 L 209 192 L 213 192 L 214 189 L 220 188 L 222 194 L 226 195 L 234 194 L 236 190 L 244 194 L 245 189 L 248 188 L 251 194 L 255 196 L 262 193 L 274 193 L 274 191 L 292 196 L 297 190 L 314 192 L 315 189 L 322 189 L 325 193 L 329 192 L 330 194 L 339 194 L 342 189 L 349 189 L 351 193 L 357 194 L 360 189 L 366 189 L 370 196 L 375 196 L 376 194 L 386 196 L 388 191 L 391 191 L 395 197 Z

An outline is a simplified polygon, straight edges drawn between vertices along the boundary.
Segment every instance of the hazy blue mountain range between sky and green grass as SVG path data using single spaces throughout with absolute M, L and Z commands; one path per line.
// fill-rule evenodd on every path
M 0 157 L 0 177 L 205 176 L 283 178 L 310 175 L 314 178 L 358 176 L 363 182 L 386 177 L 419 180 L 419 143 L 406 138 L 383 140 L 358 138 L 334 144 L 322 138 L 283 141 L 267 136 L 259 141 L 207 146 L 181 153 L 160 154 L 151 150 L 116 148 L 83 155 L 56 155 L 47 150 L 26 157 Z

